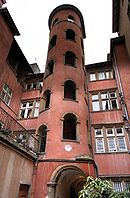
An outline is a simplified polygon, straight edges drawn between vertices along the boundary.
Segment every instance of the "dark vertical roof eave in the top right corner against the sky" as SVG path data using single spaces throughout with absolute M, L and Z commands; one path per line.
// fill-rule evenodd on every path
M 119 12 L 120 11 L 120 1 L 113 0 L 112 5 L 112 31 L 119 32 Z

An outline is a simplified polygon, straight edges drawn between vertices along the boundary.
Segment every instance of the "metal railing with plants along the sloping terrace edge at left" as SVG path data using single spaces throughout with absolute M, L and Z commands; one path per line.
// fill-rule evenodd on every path
M 37 154 L 39 151 L 38 139 L 30 134 L 17 120 L 0 107 L 0 133 L 8 136 L 16 145 L 26 151 Z

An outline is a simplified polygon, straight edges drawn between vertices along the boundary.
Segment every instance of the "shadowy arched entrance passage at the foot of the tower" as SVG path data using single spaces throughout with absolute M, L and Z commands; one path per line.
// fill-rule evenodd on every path
M 78 192 L 83 188 L 85 174 L 76 166 L 65 166 L 55 172 L 49 198 L 78 198 Z M 51 182 L 52 184 L 52 182 Z M 55 188 L 55 189 L 54 189 Z

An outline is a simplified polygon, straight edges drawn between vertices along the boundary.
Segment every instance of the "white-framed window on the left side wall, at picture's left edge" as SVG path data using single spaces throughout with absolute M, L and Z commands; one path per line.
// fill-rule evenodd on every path
M 13 95 L 13 92 L 11 91 L 9 86 L 5 83 L 0 93 L 0 97 L 8 106 L 10 105 L 12 95 Z

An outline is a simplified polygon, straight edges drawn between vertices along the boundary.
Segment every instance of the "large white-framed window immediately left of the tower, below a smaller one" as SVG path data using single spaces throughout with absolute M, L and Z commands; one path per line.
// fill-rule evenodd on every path
M 40 106 L 40 102 L 36 100 L 22 102 L 19 117 L 20 118 L 38 117 L 39 106 Z

